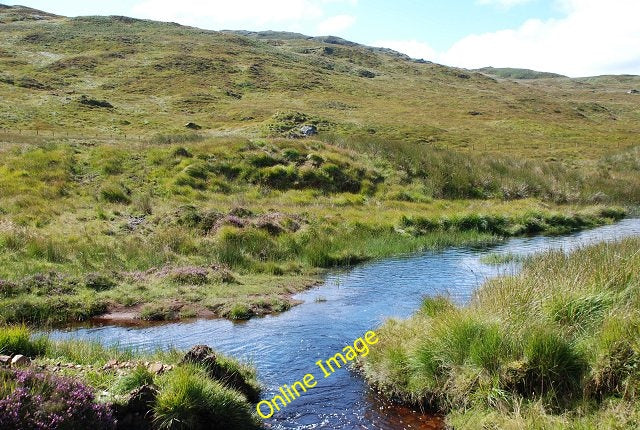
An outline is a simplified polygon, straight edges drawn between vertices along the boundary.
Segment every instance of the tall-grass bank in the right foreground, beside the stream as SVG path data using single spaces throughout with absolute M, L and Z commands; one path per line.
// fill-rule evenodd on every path
M 549 252 L 464 308 L 429 298 L 364 363 L 390 397 L 454 428 L 636 428 L 640 239 Z

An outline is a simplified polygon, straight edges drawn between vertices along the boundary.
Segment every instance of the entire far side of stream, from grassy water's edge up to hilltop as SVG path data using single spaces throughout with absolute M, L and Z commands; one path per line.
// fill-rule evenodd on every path
M 0 321 L 247 319 L 329 268 L 640 203 L 635 77 L 498 81 L 338 38 L 17 6 L 0 21 Z

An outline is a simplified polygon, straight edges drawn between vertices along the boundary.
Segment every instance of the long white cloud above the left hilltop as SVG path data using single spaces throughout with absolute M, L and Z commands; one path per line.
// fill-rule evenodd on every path
M 326 6 L 352 7 L 357 0 L 144 0 L 132 7 L 136 17 L 175 21 L 208 29 L 342 31 L 353 24 L 348 15 L 326 17 Z

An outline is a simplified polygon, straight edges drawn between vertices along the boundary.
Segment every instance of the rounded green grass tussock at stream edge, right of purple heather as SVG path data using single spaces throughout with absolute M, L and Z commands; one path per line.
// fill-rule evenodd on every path
M 154 422 L 162 430 L 257 428 L 240 393 L 192 366 L 179 367 L 160 382 Z

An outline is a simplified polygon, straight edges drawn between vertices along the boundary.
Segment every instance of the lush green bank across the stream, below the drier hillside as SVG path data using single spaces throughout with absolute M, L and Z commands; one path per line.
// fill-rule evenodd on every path
M 190 140 L 1 148 L 0 321 L 247 319 L 327 268 L 590 228 L 627 201 L 611 180 L 594 204 L 588 171 L 538 162 Z

